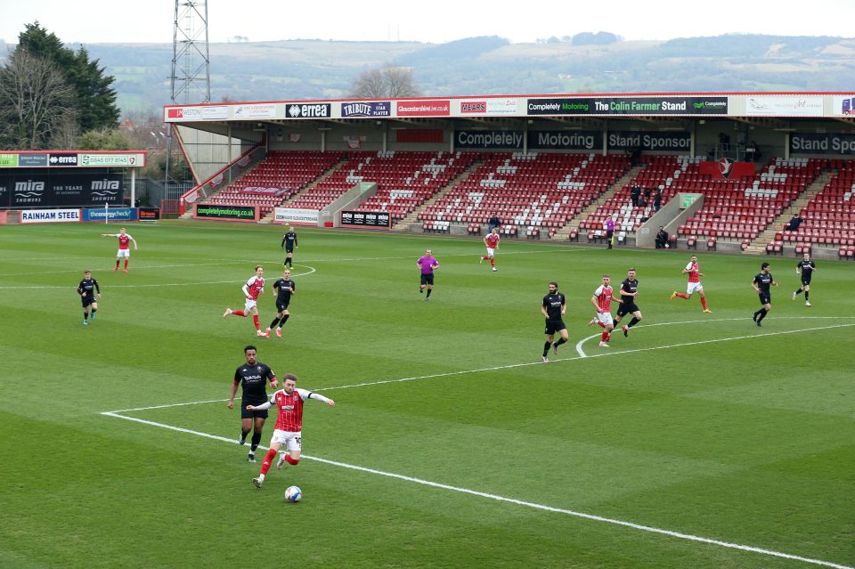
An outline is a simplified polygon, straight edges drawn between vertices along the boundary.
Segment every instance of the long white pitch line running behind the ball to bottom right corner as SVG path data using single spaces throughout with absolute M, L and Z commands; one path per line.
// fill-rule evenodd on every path
M 234 439 L 229 439 L 220 435 L 210 435 L 208 433 L 202 433 L 201 431 L 194 431 L 191 429 L 186 429 L 182 427 L 174 427 L 172 425 L 167 425 L 166 423 L 158 423 L 155 421 L 149 421 L 146 419 L 137 419 L 135 417 L 126 417 L 124 415 L 119 415 L 117 411 L 104 411 L 101 413 L 102 415 L 108 417 L 114 417 L 116 419 L 126 419 L 128 421 L 134 421 L 136 423 L 142 423 L 143 425 L 150 425 L 152 427 L 160 427 L 165 428 L 172 431 L 177 431 L 179 433 L 185 433 L 188 435 L 197 435 L 202 436 L 208 439 L 213 439 L 215 441 L 222 441 L 224 443 L 232 443 L 234 444 Z M 268 447 L 258 445 L 258 448 L 267 450 Z M 691 533 L 683 533 L 683 532 L 673 532 L 672 530 L 664 530 L 662 528 L 653 527 L 650 525 L 643 524 L 634 524 L 632 522 L 626 522 L 624 520 L 615 519 L 613 517 L 605 517 L 605 516 L 595 516 L 593 514 L 586 514 L 585 512 L 577 512 L 572 509 L 565 508 L 555 508 L 553 506 L 547 506 L 545 504 L 538 504 L 536 502 L 529 502 L 525 500 L 517 500 L 514 498 L 508 498 L 506 496 L 501 496 L 499 494 L 492 494 L 489 492 L 479 492 L 477 490 L 470 490 L 468 488 L 462 488 L 460 486 L 452 486 L 450 484 L 441 484 L 438 482 L 432 482 L 430 480 L 425 480 L 423 478 L 415 478 L 413 476 L 404 476 L 400 474 L 395 474 L 394 472 L 386 472 L 383 470 L 377 470 L 375 468 L 368 467 L 360 467 L 353 464 L 347 464 L 346 462 L 338 462 L 337 460 L 330 459 L 321 459 L 318 457 L 313 457 L 309 455 L 302 455 L 300 458 L 314 460 L 316 462 L 321 462 L 322 464 L 330 465 L 333 467 L 341 467 L 347 468 L 349 470 L 356 470 L 359 472 L 364 472 L 367 474 L 377 475 L 377 476 L 385 476 L 387 478 L 395 478 L 396 480 L 403 480 L 405 482 L 411 482 L 413 484 L 421 484 L 423 486 L 429 486 L 431 488 L 438 488 L 440 490 L 448 490 L 451 492 L 460 492 L 462 494 L 468 494 L 470 496 L 477 496 L 478 498 L 486 498 L 488 500 L 496 500 L 500 502 L 505 502 L 509 504 L 515 504 L 517 506 L 524 506 L 525 508 L 533 508 L 539 509 L 546 512 L 551 512 L 554 514 L 565 514 L 566 516 L 574 516 L 580 517 L 582 519 L 591 520 L 595 522 L 602 522 L 604 524 L 614 524 L 621 525 L 623 527 L 628 527 L 633 530 L 639 530 L 641 532 L 650 532 L 657 533 L 660 535 L 667 535 L 669 537 L 677 538 L 680 540 L 688 540 L 688 541 L 697 541 L 700 543 L 707 543 L 709 545 L 717 545 L 722 548 L 727 549 L 738 549 L 740 551 L 749 551 L 752 553 L 759 553 L 761 555 L 769 556 L 769 557 L 781 557 L 784 559 L 791 559 L 794 561 L 801 561 L 802 563 L 808 563 L 810 565 L 820 565 L 824 567 L 833 567 L 834 569 L 855 569 L 855 567 L 851 567 L 849 565 L 840 565 L 836 563 L 831 563 L 829 561 L 823 561 L 821 559 L 811 559 L 810 557 L 802 557 L 789 553 L 783 553 L 781 551 L 775 551 L 774 549 L 763 549 L 756 548 L 750 545 L 742 545 L 739 543 L 732 543 L 729 541 L 720 541 L 714 540 L 712 538 L 705 538 L 699 535 L 692 535 Z

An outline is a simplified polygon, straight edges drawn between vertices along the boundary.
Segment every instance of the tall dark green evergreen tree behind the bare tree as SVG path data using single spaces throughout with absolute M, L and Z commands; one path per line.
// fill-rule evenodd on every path
M 110 86 L 115 77 L 105 74 L 98 60 L 89 61 L 89 53 L 81 46 L 77 52 L 62 45 L 59 37 L 48 33 L 38 22 L 27 24 L 18 38 L 19 50 L 52 61 L 74 89 L 79 130 L 86 132 L 118 126 L 119 110 L 116 91 Z

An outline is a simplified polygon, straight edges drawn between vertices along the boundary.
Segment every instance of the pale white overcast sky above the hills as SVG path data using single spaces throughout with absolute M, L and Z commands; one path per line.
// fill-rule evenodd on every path
M 38 20 L 66 43 L 172 43 L 174 17 L 175 2 L 170 0 L 3 0 L 0 38 L 17 43 L 24 24 Z M 633 40 L 727 33 L 855 37 L 853 22 L 853 0 L 208 2 L 211 42 L 244 36 L 249 41 L 311 38 L 444 43 L 463 37 L 501 36 L 526 43 L 585 31 L 608 31 Z

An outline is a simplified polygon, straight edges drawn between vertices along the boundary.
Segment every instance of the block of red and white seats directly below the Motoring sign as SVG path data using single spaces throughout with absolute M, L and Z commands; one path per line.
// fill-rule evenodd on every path
M 476 172 L 425 207 L 418 218 L 486 224 L 497 213 L 502 235 L 539 239 L 541 228 L 563 227 L 628 168 L 624 155 L 489 154 Z

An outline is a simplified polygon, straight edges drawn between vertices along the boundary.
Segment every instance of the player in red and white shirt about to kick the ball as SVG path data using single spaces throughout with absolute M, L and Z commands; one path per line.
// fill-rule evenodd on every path
M 288 452 L 282 452 L 279 462 L 276 463 L 277 470 L 281 469 L 286 462 L 291 466 L 296 466 L 297 462 L 300 461 L 300 451 L 303 450 L 303 403 L 307 399 L 317 399 L 330 407 L 336 404 L 322 394 L 297 388 L 297 376 L 293 373 L 286 373 L 285 377 L 282 378 L 282 388 L 273 394 L 270 401 L 261 405 L 247 405 L 247 410 L 250 411 L 268 410 L 273 405 L 276 405 L 278 410 L 276 427 L 273 431 L 273 437 L 270 439 L 270 450 L 267 451 L 265 459 L 261 463 L 261 472 L 258 477 L 252 479 L 252 484 L 256 484 L 256 488 L 259 490 L 261 490 L 261 484 L 265 482 L 267 471 L 273 464 L 273 458 L 283 446 Z

